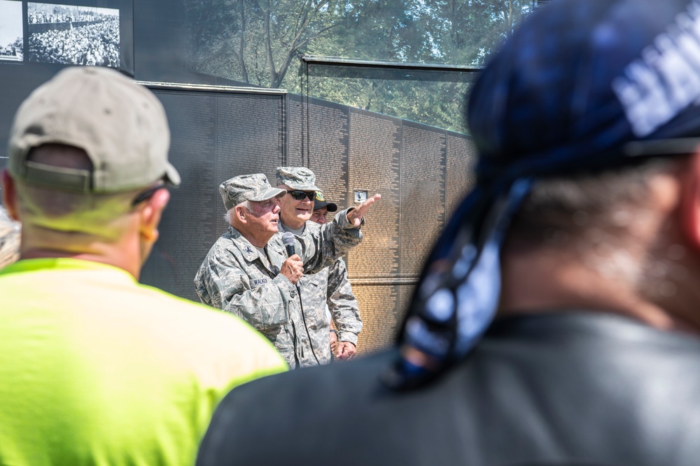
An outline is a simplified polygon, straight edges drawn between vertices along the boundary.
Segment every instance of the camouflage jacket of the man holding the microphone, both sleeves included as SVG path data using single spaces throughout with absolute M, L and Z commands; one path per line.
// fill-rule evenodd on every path
M 304 272 L 317 272 L 362 240 L 359 228 L 347 221 L 346 210 L 328 224 L 297 237 L 295 252 Z M 202 303 L 235 314 L 270 340 L 289 367 L 317 365 L 304 328 L 297 290 L 279 274 L 287 258 L 281 233 L 267 242 L 269 262 L 239 231 L 230 226 L 209 249 L 195 275 Z M 325 312 L 325 311 L 324 311 Z M 328 328 L 328 325 L 326 325 Z

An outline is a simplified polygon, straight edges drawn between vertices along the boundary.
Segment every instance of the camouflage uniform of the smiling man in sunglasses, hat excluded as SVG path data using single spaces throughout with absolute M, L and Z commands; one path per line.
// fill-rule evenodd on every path
M 278 226 L 279 231 L 286 231 L 281 222 Z M 304 232 L 297 239 L 308 241 L 320 229 L 321 225 L 307 221 Z M 302 317 L 306 321 L 311 340 L 311 348 L 307 351 L 314 351 L 318 363 L 328 364 L 331 361 L 331 351 L 326 305 L 338 330 L 339 342 L 351 342 L 357 346 L 357 336 L 362 330 L 357 298 L 352 293 L 345 261 L 338 259 L 321 272 L 304 275 L 299 283 L 304 305 Z

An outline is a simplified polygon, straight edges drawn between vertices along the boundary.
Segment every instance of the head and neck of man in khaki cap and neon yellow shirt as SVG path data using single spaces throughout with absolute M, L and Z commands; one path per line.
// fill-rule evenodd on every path
M 2 179 L 22 257 L 120 249 L 116 265 L 137 275 L 158 238 L 161 188 L 180 182 L 169 143 L 160 101 L 117 71 L 66 68 L 38 87 L 15 114 Z

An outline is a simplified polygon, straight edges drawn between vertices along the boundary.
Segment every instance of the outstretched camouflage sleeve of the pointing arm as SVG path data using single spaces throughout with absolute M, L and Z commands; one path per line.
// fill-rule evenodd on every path
M 332 222 L 323 226 L 307 222 L 305 231 L 309 231 L 309 234 L 300 238 L 302 247 L 299 254 L 304 261 L 304 273 L 316 273 L 328 267 L 353 246 L 360 244 L 362 232 L 348 221 L 349 210 L 338 212 Z

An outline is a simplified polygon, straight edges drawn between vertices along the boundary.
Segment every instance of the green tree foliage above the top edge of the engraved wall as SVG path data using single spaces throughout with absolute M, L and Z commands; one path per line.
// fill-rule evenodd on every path
M 201 73 L 465 131 L 468 82 L 307 77 L 304 54 L 479 67 L 536 0 L 183 0 Z M 307 87 L 308 85 L 308 87 Z

